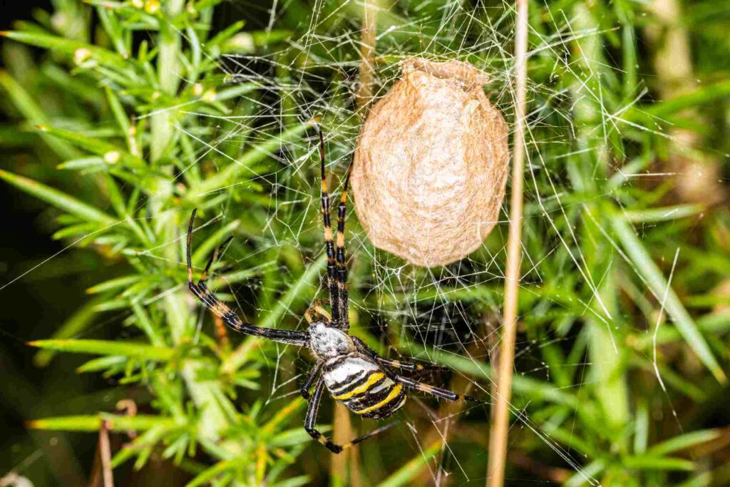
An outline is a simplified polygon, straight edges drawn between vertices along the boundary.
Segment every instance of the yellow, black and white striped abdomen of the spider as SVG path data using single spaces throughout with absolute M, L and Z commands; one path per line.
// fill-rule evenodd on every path
M 323 377 L 332 398 L 364 418 L 388 418 L 407 399 L 402 384 L 393 382 L 377 364 L 359 353 L 327 361 Z

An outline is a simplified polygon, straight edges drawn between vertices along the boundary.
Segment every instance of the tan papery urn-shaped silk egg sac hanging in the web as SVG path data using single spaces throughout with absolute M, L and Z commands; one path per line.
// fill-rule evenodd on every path
M 507 124 L 485 96 L 485 73 L 413 58 L 372 107 L 353 164 L 356 212 L 377 248 L 419 266 L 479 248 L 499 219 Z

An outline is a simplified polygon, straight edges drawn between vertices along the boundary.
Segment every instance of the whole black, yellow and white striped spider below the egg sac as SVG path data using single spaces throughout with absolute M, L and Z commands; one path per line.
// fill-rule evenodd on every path
M 218 315 L 223 323 L 226 323 L 234 331 L 310 349 L 315 358 L 315 367 L 312 368 L 307 382 L 304 383 L 304 386 L 301 386 L 300 390 L 301 396 L 309 401 L 304 429 L 328 450 L 333 453 L 340 453 L 342 450 L 374 437 L 391 426 L 395 426 L 396 423 L 382 426 L 354 440 L 337 445 L 315 427 L 317 412 L 325 388 L 332 399 L 345 404 L 350 411 L 361 415 L 363 418 L 383 419 L 393 415 L 405 404 L 407 389 L 421 391 L 449 401 L 482 401 L 400 375 L 399 371 L 420 372 L 425 369 L 442 369 L 442 367 L 418 364 L 415 361 L 383 358 L 358 337 L 349 334 L 347 267 L 345 266 L 345 203 L 347 201 L 347 185 L 350 182 L 352 164 L 347 169 L 345 185 L 337 207 L 337 237 L 335 244 L 332 240 L 329 194 L 325 175 L 325 145 L 321 131 L 319 131 L 319 142 L 322 219 L 327 252 L 327 278 L 330 300 L 329 302 L 315 302 L 304 313 L 304 318 L 309 323 L 307 331 L 264 328 L 244 323 L 231 308 L 209 291 L 205 285 L 205 280 L 210 265 L 218 256 L 220 247 L 212 253 L 200 280 L 197 283 L 193 282 L 191 241 L 193 238 L 193 221 L 197 210 L 193 210 L 188 225 L 188 287 L 206 307 L 215 315 Z M 224 245 L 221 245 L 221 247 Z M 322 304 L 325 303 L 331 304 L 331 315 L 323 308 Z M 312 387 L 314 392 L 310 394 Z

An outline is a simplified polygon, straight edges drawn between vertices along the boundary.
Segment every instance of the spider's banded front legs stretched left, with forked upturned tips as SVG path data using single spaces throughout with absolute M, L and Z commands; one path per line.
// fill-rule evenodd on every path
M 208 262 L 208 265 L 203 272 L 203 277 L 198 283 L 193 282 L 193 263 L 192 263 L 192 250 L 191 242 L 193 240 L 193 222 L 195 221 L 195 214 L 197 210 L 193 210 L 193 214 L 190 217 L 190 223 L 188 225 L 188 248 L 186 250 L 186 258 L 188 261 L 188 288 L 200 301 L 211 310 L 216 316 L 218 316 L 223 323 L 226 323 L 228 328 L 240 333 L 253 335 L 255 337 L 262 337 L 274 342 L 286 343 L 288 345 L 308 345 L 310 342 L 310 334 L 306 331 L 293 331 L 293 330 L 280 330 L 274 328 L 264 328 L 262 326 L 255 326 L 249 323 L 244 323 L 241 318 L 228 307 L 227 304 L 221 302 L 215 294 L 208 290 L 205 285 L 205 277 L 207 277 L 207 271 L 210 269 L 212 260 Z M 215 254 L 215 253 L 214 253 Z

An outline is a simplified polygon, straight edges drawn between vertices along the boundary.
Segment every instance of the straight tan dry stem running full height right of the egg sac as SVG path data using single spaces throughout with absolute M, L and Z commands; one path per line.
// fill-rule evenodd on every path
M 517 107 L 515 137 L 513 141 L 512 193 L 510 195 L 510 237 L 507 242 L 507 272 L 504 279 L 504 325 L 502 347 L 499 353 L 499 374 L 494 421 L 489 435 L 489 463 L 487 486 L 504 484 L 504 467 L 507 457 L 507 431 L 510 419 L 510 391 L 512 369 L 515 361 L 515 334 L 517 331 L 517 297 L 520 285 L 520 261 L 522 248 L 522 173 L 525 158 L 525 113 L 527 80 L 527 29 L 528 2 L 517 1 L 517 31 L 515 64 L 517 74 Z

